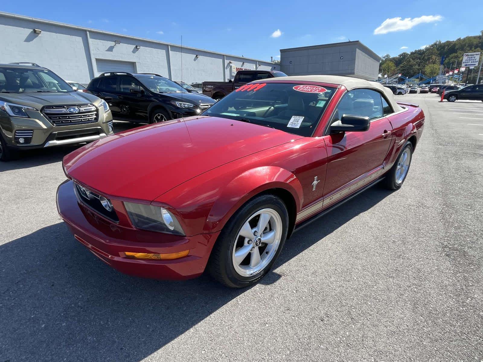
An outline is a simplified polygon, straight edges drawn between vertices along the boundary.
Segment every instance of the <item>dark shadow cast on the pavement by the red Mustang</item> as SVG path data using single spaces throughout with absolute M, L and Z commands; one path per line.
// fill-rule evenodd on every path
M 390 194 L 369 189 L 295 233 L 275 267 Z M 1 245 L 0 265 L 0 361 L 140 361 L 247 291 L 206 275 L 182 282 L 123 275 L 63 223 Z M 279 278 L 272 271 L 255 288 Z

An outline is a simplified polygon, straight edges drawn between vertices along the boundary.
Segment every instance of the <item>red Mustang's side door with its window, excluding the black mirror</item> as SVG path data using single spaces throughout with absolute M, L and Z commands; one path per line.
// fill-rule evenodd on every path
M 343 114 L 369 117 L 370 126 L 364 132 L 330 134 L 327 130 L 324 136 L 327 146 L 324 197 L 355 187 L 352 181 L 362 180 L 369 176 L 369 172 L 380 168 L 392 140 L 392 126 L 383 115 L 382 95 L 377 90 L 354 89 L 347 92 L 341 98 L 329 124 L 339 121 Z

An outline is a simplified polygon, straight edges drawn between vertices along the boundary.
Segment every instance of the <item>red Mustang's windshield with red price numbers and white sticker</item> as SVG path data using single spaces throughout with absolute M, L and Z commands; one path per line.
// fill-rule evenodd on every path
M 290 84 L 249 83 L 231 92 L 202 115 L 228 118 L 312 136 L 335 88 Z

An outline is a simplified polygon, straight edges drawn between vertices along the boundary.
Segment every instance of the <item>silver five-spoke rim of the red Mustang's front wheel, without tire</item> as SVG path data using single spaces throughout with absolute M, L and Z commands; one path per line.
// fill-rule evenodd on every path
M 235 238 L 232 262 L 243 277 L 263 270 L 273 259 L 282 238 L 282 218 L 274 209 L 261 209 L 241 226 Z

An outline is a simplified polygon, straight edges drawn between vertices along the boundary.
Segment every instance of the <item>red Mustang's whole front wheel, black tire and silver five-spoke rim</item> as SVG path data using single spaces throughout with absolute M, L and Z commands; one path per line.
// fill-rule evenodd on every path
M 243 205 L 221 231 L 210 256 L 213 278 L 243 288 L 268 273 L 284 246 L 288 212 L 278 197 L 260 195 Z

